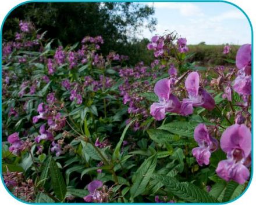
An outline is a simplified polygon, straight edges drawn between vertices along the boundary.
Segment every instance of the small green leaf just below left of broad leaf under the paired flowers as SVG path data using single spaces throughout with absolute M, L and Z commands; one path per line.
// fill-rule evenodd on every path
M 150 129 L 147 130 L 147 133 L 148 136 L 150 136 L 151 140 L 157 143 L 164 144 L 166 142 L 172 142 L 174 140 L 173 134 L 170 134 L 169 131 Z

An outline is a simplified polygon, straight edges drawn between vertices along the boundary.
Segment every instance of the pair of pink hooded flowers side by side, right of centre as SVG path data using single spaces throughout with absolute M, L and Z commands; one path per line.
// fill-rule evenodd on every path
M 193 107 L 203 107 L 209 111 L 214 109 L 214 98 L 200 87 L 198 72 L 191 72 L 187 76 L 185 87 L 189 98 L 183 98 L 182 102 L 172 94 L 174 84 L 175 81 L 169 78 L 161 79 L 155 84 L 154 92 L 158 96 L 159 102 L 154 102 L 150 107 L 150 114 L 155 119 L 164 119 L 166 112 L 174 112 L 184 116 L 190 115 L 193 114 Z

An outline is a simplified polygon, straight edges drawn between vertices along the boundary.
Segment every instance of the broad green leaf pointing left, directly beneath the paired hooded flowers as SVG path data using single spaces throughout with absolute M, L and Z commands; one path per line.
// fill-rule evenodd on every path
M 158 127 L 158 129 L 169 131 L 179 136 L 193 137 L 194 129 L 198 122 L 171 122 Z

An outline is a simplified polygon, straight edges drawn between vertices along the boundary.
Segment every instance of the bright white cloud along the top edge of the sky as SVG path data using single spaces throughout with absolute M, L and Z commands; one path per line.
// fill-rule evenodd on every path
M 159 9 L 179 10 L 182 16 L 203 16 L 202 10 L 193 3 L 150 2 L 149 6 Z

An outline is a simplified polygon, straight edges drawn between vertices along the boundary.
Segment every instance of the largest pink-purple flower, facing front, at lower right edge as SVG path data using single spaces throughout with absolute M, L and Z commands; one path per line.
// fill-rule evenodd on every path
M 221 160 L 216 169 L 219 177 L 226 181 L 234 180 L 244 184 L 250 176 L 246 167 L 251 155 L 251 131 L 246 125 L 234 124 L 228 127 L 221 137 L 221 148 L 227 153 L 227 159 Z

